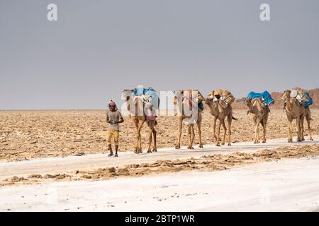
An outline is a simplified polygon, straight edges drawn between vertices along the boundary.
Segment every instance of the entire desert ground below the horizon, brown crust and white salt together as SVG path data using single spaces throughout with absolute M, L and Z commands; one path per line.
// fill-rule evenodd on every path
M 149 204 L 152 206 L 150 210 L 161 210 L 161 208 L 172 210 L 168 206 L 176 204 L 184 206 L 181 210 L 226 210 L 231 205 L 223 198 L 219 198 L 215 203 L 210 201 L 211 206 L 204 204 L 193 206 L 193 208 L 189 206 L 196 200 L 216 198 L 216 193 L 221 192 L 220 189 L 225 187 L 225 184 L 219 184 L 220 189 L 216 190 L 216 187 L 205 185 L 203 181 L 209 178 L 211 183 L 220 183 L 220 172 L 225 171 L 223 177 L 229 177 L 229 179 L 244 177 L 242 174 L 246 175 L 246 184 L 242 185 L 242 190 L 238 191 L 237 196 L 247 198 L 247 203 L 238 200 L 237 208 L 232 207 L 229 210 L 318 210 L 318 196 L 301 196 L 300 199 L 295 199 L 300 208 L 287 206 L 291 200 L 288 201 L 289 198 L 285 194 L 277 197 L 279 203 L 276 203 L 274 208 L 272 208 L 274 202 L 268 200 L 269 197 L 274 198 L 278 195 L 273 194 L 272 191 L 276 193 L 280 189 L 286 189 L 286 185 L 276 187 L 277 180 L 284 180 L 288 184 L 291 183 L 291 186 L 298 186 L 298 183 L 303 183 L 303 180 L 307 180 L 304 183 L 308 183 L 309 180 L 308 177 L 298 180 L 300 176 L 298 174 L 304 175 L 310 172 L 318 174 L 319 172 L 315 164 L 315 161 L 319 160 L 319 109 L 311 109 L 311 112 L 314 141 L 308 141 L 309 133 L 305 121 L 306 141 L 297 143 L 295 137 L 294 143 L 288 143 L 286 114 L 281 109 L 272 109 L 267 125 L 267 143 L 253 144 L 252 115 L 247 115 L 245 109 L 234 109 L 234 117 L 237 120 L 233 120 L 232 146 L 216 147 L 211 136 L 211 114 L 204 111 L 202 121 L 204 148 L 198 148 L 198 133 L 195 126 L 194 150 L 187 150 L 185 147 L 181 150 L 174 149 L 177 140 L 177 119 L 160 115 L 156 126 L 159 151 L 146 153 L 148 131 L 147 126 L 144 125 L 143 153 L 140 155 L 133 153 L 135 128 L 130 118 L 125 117 L 125 122 L 120 126 L 120 157 L 110 158 L 107 157 L 105 139 L 107 130 L 105 110 L 1 111 L 0 209 L 5 211 L 112 211 L 130 210 L 136 205 Z M 293 135 L 296 136 L 295 128 L 294 131 Z M 259 135 L 262 136 L 261 130 Z M 183 146 L 187 143 L 186 125 L 183 127 L 181 142 Z M 303 164 L 308 164 L 308 167 L 303 169 Z M 296 170 L 292 170 L 293 165 L 300 169 L 298 174 L 294 173 Z M 264 177 L 264 174 L 272 175 L 269 176 L 269 185 L 258 188 L 261 189 L 260 192 L 258 191 L 261 197 L 257 197 L 257 203 L 250 203 L 253 193 L 249 189 L 245 191 L 244 186 L 253 184 L 258 175 L 247 175 L 247 170 L 250 170 L 250 173 L 259 172 L 260 177 Z M 292 170 L 289 177 L 293 179 L 286 177 L 289 170 Z M 190 193 L 190 185 L 183 186 L 185 177 L 204 184 L 198 188 L 198 192 Z M 164 179 L 158 181 L 161 178 Z M 175 179 L 176 183 L 172 183 Z M 133 189 L 128 192 L 125 189 L 136 182 L 145 183 L 145 187 L 151 190 L 147 191 L 148 195 L 140 194 L 140 190 Z M 72 198 L 72 188 L 76 186 L 76 183 L 82 183 L 82 190 Z M 303 187 L 300 191 L 296 188 L 298 191 L 293 191 L 291 194 L 298 197 L 299 193 L 313 191 L 314 183 L 318 184 L 319 181 L 311 182 L 308 187 Z M 111 194 L 103 196 L 99 201 L 95 196 L 88 197 L 91 191 L 106 192 L 105 186 L 118 189 L 115 195 L 118 197 L 116 201 Z M 174 189 L 174 186 L 178 189 Z M 159 189 L 160 187 L 169 188 L 171 196 L 161 198 L 163 192 Z M 185 187 L 186 190 L 183 191 L 181 187 Z M 50 200 L 48 201 L 47 197 L 39 199 L 40 196 L 47 196 L 45 193 L 48 190 Z M 52 201 L 52 194 L 50 195 L 51 191 L 54 191 L 54 201 Z M 233 192 L 231 189 L 224 189 L 221 194 L 227 197 Z M 133 198 L 135 195 L 142 198 L 135 199 Z M 28 196 L 28 201 L 21 196 Z M 266 201 L 263 201 L 263 198 Z M 283 199 L 280 200 L 280 198 Z M 41 203 L 39 204 L 37 200 Z M 65 208 L 65 202 L 67 202 L 67 208 Z M 218 206 L 218 203 L 223 205 Z

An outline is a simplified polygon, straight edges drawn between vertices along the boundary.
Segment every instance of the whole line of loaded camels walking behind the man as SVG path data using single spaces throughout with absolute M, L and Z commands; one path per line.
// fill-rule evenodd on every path
M 157 112 L 159 110 L 159 93 L 152 88 L 135 88 L 133 90 L 123 90 L 123 98 L 125 100 L 130 119 L 136 129 L 135 153 L 142 153 L 141 129 L 146 123 L 149 131 L 147 153 L 157 152 Z M 288 141 L 292 142 L 292 121 L 296 119 L 297 141 L 304 141 L 303 122 L 306 119 L 310 140 L 313 141 L 310 129 L 310 105 L 313 104 L 309 93 L 304 90 L 286 90 L 281 99 L 284 101 L 284 111 L 289 122 Z M 270 113 L 269 106 L 274 105 L 272 95 L 267 91 L 263 93 L 250 92 L 247 97 L 242 97 L 237 102 L 242 102 L 247 108 L 247 114 L 252 114 L 254 122 L 254 143 L 260 143 L 259 125 L 262 126 L 262 143 L 266 143 L 267 121 Z M 176 114 L 174 117 L 178 121 L 177 141 L 175 148 L 181 148 L 181 133 L 183 124 L 188 128 L 188 149 L 194 149 L 194 125 L 198 127 L 199 148 L 203 148 L 201 141 L 201 121 L 202 114 L 205 110 L 204 104 L 211 113 L 212 121 L 212 139 L 216 141 L 216 146 L 225 145 L 226 135 L 228 136 L 227 144 L 231 145 L 232 121 L 237 120 L 233 116 L 232 104 L 235 97 L 228 90 L 213 90 L 204 97 L 198 90 L 176 90 L 174 91 L 174 108 Z M 113 112 L 114 110 L 113 107 Z M 108 114 L 108 113 L 107 113 Z M 120 118 L 123 119 L 121 117 Z M 108 115 L 107 115 L 108 119 Z M 227 119 L 227 126 L 225 124 Z M 120 121 L 119 123 L 123 122 Z M 218 126 L 216 128 L 218 122 Z M 110 123 L 108 121 L 108 123 Z M 223 136 L 220 138 L 220 127 L 223 126 Z M 111 126 L 111 128 L 113 128 Z M 217 130 L 216 130 L 217 129 Z M 119 131 L 119 129 L 118 129 Z M 110 138 L 108 138 L 108 141 Z M 109 144 L 109 143 L 108 143 Z M 153 146 L 152 146 L 153 144 Z M 110 146 L 110 145 L 109 145 Z M 110 149 L 110 148 L 109 148 Z M 110 149 L 111 150 L 111 149 Z M 113 153 L 111 151 L 110 156 Z M 116 148 L 117 156 L 117 148 Z

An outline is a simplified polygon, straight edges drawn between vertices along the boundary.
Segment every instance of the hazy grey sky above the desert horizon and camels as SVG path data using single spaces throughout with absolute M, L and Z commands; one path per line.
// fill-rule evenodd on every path
M 0 76 L 0 109 L 101 109 L 137 85 L 315 88 L 319 1 L 0 0 Z

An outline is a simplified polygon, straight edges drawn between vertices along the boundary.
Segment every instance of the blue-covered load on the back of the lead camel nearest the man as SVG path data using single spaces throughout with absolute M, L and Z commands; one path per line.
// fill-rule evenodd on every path
M 145 117 L 148 121 L 155 121 L 157 109 L 159 109 L 159 97 L 153 88 L 135 88 L 132 90 L 133 97 L 142 97 L 145 105 Z

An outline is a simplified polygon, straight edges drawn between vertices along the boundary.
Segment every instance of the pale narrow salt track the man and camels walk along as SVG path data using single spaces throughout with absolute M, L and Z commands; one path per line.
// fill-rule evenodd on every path
M 307 137 L 306 137 L 307 138 Z M 181 150 L 174 148 L 161 148 L 157 153 L 135 154 L 132 152 L 120 153 L 120 157 L 107 157 L 106 154 L 91 154 L 84 156 L 51 157 L 21 162 L 1 162 L 0 179 L 17 176 L 24 177 L 30 174 L 55 174 L 61 172 L 74 172 L 76 170 L 98 169 L 101 167 L 120 167 L 128 164 L 155 162 L 156 160 L 177 160 L 190 157 L 201 157 L 203 155 L 229 154 L 234 152 L 252 153 L 262 149 L 279 148 L 292 145 L 318 144 L 319 136 L 313 136 L 315 141 L 304 141 L 302 143 L 287 143 L 285 138 L 269 140 L 267 143 L 254 144 L 252 142 L 233 143 L 232 146 L 216 147 L 206 145 L 205 148 Z M 296 140 L 296 138 L 295 138 Z

